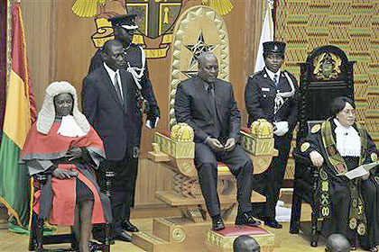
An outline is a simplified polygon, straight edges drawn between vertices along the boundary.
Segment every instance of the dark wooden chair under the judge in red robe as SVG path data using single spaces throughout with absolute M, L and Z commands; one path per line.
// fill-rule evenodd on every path
M 47 181 L 46 175 L 33 175 L 31 177 L 32 184 L 32 192 L 31 195 L 36 190 L 40 190 L 42 185 Z M 33 199 L 33 198 L 32 198 Z M 91 242 L 91 251 L 110 251 L 110 243 L 109 243 L 109 227 L 108 224 L 103 225 L 103 232 L 105 240 L 104 242 L 96 243 Z M 79 251 L 78 244 L 76 242 L 76 238 L 73 232 L 66 234 L 54 234 L 54 235 L 45 235 L 43 231 L 45 229 L 45 221 L 38 219 L 38 214 L 35 211 L 32 211 L 32 220 L 31 220 L 31 234 L 29 236 L 29 251 Z M 46 249 L 43 245 L 51 245 L 51 244 L 63 244 L 69 243 L 71 247 L 69 248 L 51 248 Z

